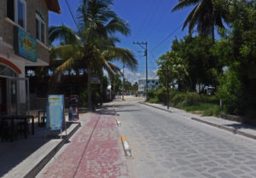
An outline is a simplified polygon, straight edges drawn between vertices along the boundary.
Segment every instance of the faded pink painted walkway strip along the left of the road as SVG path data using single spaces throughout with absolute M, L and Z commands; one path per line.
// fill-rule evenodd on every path
M 37 177 L 129 177 L 115 118 L 93 115 Z

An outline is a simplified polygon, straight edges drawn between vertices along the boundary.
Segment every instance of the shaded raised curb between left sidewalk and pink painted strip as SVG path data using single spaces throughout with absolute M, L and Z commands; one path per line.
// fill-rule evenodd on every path
M 66 137 L 58 144 L 56 145 L 48 154 L 45 155 L 45 157 L 38 163 L 35 164 L 34 167 L 32 167 L 31 170 L 24 176 L 24 178 L 31 178 L 36 177 L 38 173 L 41 171 L 41 169 L 44 168 L 45 164 L 48 164 L 49 160 L 55 156 L 55 153 L 58 152 L 61 147 L 65 144 L 65 142 L 79 129 L 81 126 L 81 123 L 78 123 L 76 127 L 71 130 Z

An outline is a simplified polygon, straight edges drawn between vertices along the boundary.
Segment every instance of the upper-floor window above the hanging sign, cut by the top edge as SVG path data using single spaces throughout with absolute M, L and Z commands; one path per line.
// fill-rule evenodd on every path
M 7 17 L 26 29 L 26 0 L 8 0 Z

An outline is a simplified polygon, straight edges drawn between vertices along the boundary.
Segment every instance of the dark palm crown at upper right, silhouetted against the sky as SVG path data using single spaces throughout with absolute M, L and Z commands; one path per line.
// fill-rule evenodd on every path
M 189 33 L 197 26 L 197 32 L 202 36 L 211 35 L 214 43 L 214 26 L 224 27 L 223 20 L 227 21 L 224 10 L 215 0 L 180 0 L 172 12 L 195 5 L 194 9 L 183 23 L 183 29 L 189 25 Z

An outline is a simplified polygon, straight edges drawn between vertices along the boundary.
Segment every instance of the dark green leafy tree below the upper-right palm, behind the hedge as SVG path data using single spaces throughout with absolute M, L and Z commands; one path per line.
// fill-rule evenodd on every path
M 218 58 L 212 55 L 212 39 L 210 37 L 192 37 L 188 35 L 180 41 L 172 42 L 172 51 L 183 59 L 189 75 L 177 81 L 183 91 L 195 90 L 196 83 L 218 85 L 218 73 L 222 66 Z

